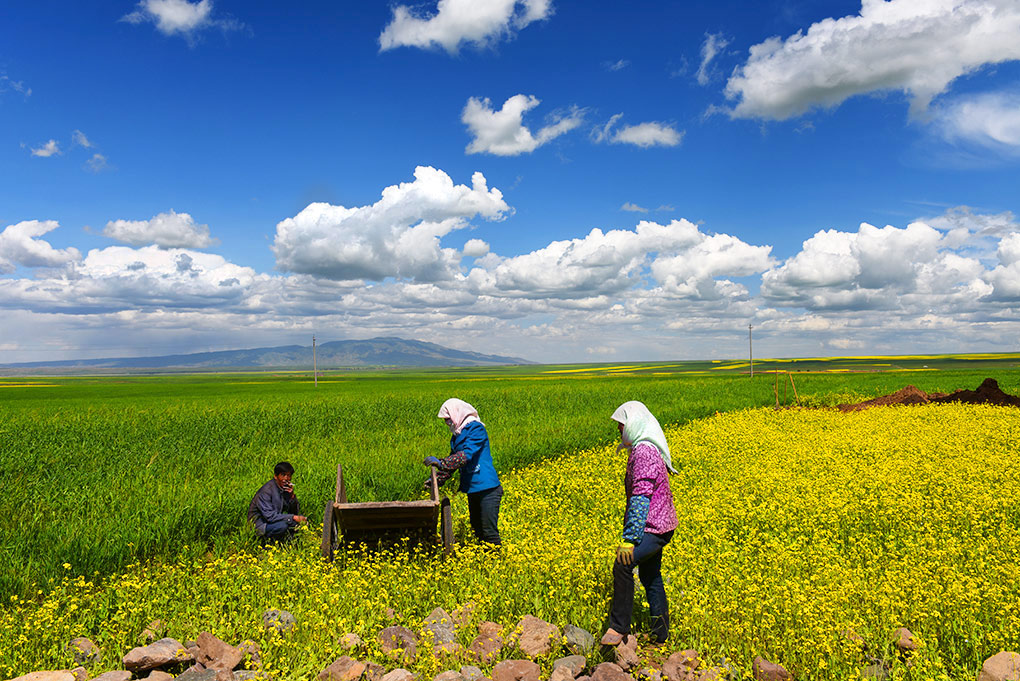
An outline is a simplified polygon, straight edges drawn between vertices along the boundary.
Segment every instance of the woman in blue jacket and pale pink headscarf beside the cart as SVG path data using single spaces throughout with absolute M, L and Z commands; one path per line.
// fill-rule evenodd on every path
M 460 471 L 460 491 L 467 492 L 471 529 L 481 541 L 499 545 L 500 502 L 503 485 L 489 452 L 489 433 L 478 419 L 478 412 L 463 400 L 447 400 L 438 415 L 450 432 L 450 456 L 426 457 L 425 464 L 436 467 L 436 478 L 443 484 Z

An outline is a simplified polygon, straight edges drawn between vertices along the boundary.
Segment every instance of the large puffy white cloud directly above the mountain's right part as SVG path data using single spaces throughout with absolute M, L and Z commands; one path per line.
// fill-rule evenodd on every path
M 509 211 L 480 172 L 471 187 L 455 186 L 442 170 L 419 166 L 413 182 L 386 188 L 370 206 L 309 205 L 276 225 L 272 250 L 280 269 L 325 278 L 447 279 L 459 256 L 441 238 L 476 215 L 498 220 Z

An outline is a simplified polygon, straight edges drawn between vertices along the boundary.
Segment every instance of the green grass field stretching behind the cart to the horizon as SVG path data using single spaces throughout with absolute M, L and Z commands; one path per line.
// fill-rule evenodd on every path
M 415 497 L 422 458 L 448 451 L 436 413 L 449 397 L 478 409 L 502 471 L 610 441 L 609 416 L 626 400 L 663 423 L 774 401 L 768 374 L 548 373 L 559 368 L 334 372 L 318 387 L 297 373 L 0 380 L 49 385 L 0 387 L 0 599 L 31 593 L 64 563 L 92 575 L 244 541 L 248 502 L 280 460 L 297 468 L 312 519 L 338 463 L 351 501 Z M 822 405 L 907 383 L 973 388 L 985 376 L 1020 391 L 1004 368 L 795 376 L 802 400 Z

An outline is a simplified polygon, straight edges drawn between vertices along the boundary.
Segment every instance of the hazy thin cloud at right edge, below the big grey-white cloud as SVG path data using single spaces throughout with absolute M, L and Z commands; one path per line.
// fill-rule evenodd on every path
M 936 122 L 952 142 L 1020 153 L 1020 95 L 1016 93 L 958 98 L 939 107 Z

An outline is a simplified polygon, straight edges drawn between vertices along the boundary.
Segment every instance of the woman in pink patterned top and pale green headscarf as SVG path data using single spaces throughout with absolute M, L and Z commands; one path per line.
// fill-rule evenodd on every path
M 640 402 L 626 402 L 613 412 L 625 450 L 627 472 L 623 487 L 627 495 L 623 536 L 613 563 L 613 599 L 609 628 L 603 645 L 617 645 L 630 633 L 633 613 L 633 570 L 645 586 L 652 615 L 652 638 L 665 642 L 669 635 L 669 606 L 662 582 L 662 549 L 673 538 L 676 509 L 669 489 L 669 473 L 675 473 L 669 446 L 659 422 Z

